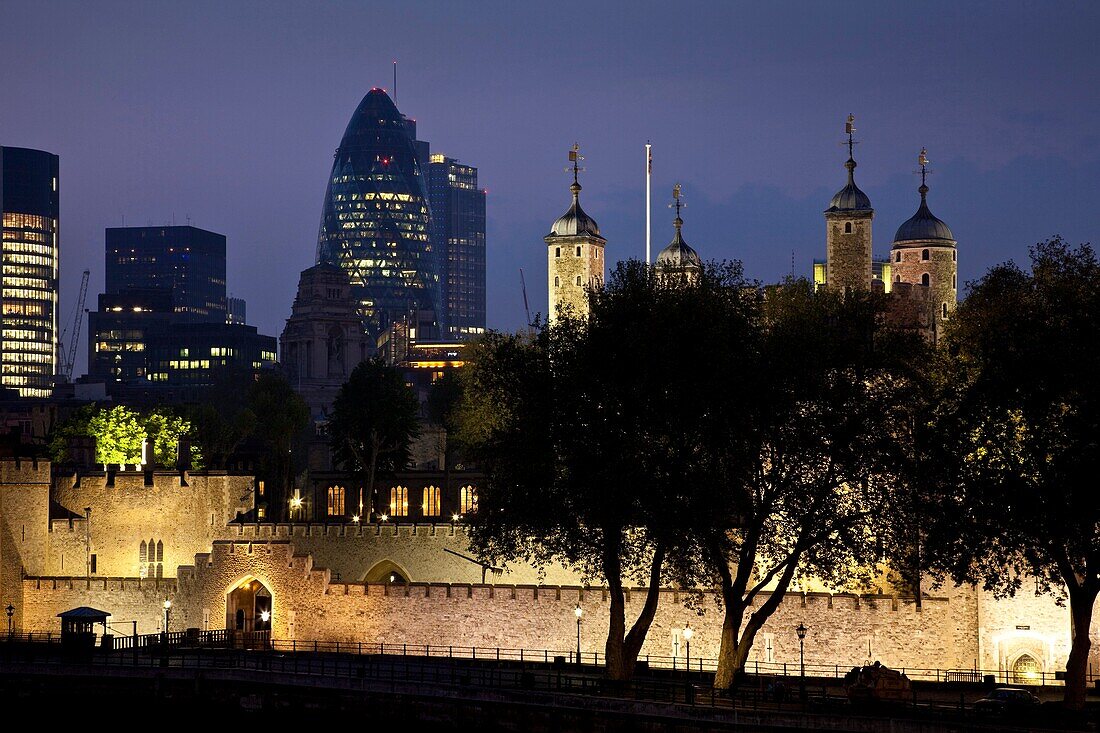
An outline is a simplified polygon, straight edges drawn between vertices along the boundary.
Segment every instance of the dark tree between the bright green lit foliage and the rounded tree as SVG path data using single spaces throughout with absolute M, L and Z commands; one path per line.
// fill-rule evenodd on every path
M 255 419 L 252 435 L 263 446 L 261 473 L 276 495 L 294 483 L 295 448 L 309 425 L 309 406 L 282 374 L 265 372 L 249 387 L 248 408 Z

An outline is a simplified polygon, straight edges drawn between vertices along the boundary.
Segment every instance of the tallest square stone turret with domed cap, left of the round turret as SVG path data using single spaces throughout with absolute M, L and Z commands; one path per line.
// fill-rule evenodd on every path
M 853 146 L 855 118 L 845 124 L 848 133 L 848 184 L 836 193 L 825 209 L 825 282 L 840 289 L 871 288 L 871 199 L 856 185 Z

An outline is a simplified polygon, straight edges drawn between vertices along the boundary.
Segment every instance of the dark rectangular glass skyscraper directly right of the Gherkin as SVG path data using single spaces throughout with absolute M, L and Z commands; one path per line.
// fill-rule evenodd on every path
M 432 239 L 439 261 L 443 335 L 485 332 L 485 192 L 477 168 L 436 153 L 428 165 Z

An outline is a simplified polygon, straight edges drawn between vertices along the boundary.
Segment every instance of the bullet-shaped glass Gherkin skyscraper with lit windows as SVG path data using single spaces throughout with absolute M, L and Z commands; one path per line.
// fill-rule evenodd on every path
M 382 89 L 355 108 L 324 194 L 318 264 L 348 272 L 364 329 L 377 337 L 414 311 L 440 313 L 438 263 L 415 122 Z

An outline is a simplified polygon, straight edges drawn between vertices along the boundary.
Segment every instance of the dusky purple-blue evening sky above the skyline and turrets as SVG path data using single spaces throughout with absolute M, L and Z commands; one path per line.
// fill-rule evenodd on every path
M 963 280 L 1062 233 L 1100 231 L 1100 6 L 12 2 L 0 0 L 0 144 L 62 166 L 62 317 L 102 289 L 103 228 L 191 222 L 229 238 L 229 289 L 278 335 L 312 262 L 332 151 L 399 62 L 398 107 L 488 189 L 488 322 L 544 309 L 542 236 L 585 209 L 608 261 L 641 256 L 644 144 L 654 251 L 681 182 L 684 238 L 750 276 L 809 274 L 822 210 L 857 180 L 889 250 L 917 205 L 959 241 Z M 84 370 L 81 339 L 77 373 Z

